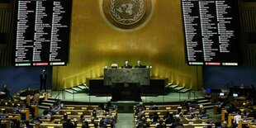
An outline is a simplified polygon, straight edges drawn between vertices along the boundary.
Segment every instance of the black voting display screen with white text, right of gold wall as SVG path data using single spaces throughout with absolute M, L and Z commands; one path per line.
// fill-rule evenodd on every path
M 188 65 L 239 64 L 237 0 L 182 0 Z

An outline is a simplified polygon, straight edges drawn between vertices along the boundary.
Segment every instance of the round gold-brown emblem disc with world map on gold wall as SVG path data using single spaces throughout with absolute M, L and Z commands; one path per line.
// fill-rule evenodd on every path
M 151 12 L 151 0 L 103 0 L 102 10 L 113 26 L 133 29 L 142 25 Z

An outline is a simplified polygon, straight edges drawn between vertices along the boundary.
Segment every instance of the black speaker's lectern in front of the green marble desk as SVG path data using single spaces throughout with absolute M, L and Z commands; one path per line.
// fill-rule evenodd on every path
M 113 83 L 111 102 L 141 102 L 140 83 Z

